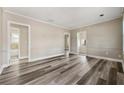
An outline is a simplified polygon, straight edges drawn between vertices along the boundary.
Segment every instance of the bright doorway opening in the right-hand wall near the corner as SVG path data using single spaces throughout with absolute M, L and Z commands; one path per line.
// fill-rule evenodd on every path
M 77 52 L 78 54 L 87 55 L 87 32 L 77 33 Z

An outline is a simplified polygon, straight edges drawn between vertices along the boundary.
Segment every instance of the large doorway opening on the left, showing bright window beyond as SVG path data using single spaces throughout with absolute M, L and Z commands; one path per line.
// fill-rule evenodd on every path
M 8 22 L 8 64 L 30 61 L 30 25 Z

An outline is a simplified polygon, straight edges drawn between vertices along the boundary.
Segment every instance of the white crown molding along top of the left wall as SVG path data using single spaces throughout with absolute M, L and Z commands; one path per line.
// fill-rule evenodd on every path
M 27 19 L 30 19 L 30 20 L 33 20 L 33 21 L 37 21 L 37 22 L 41 22 L 41 23 L 45 23 L 45 24 L 48 24 L 48 25 L 52 25 L 52 26 L 56 26 L 56 27 L 59 27 L 59 28 L 63 28 L 63 29 L 69 30 L 68 27 L 64 27 L 64 26 L 60 26 L 60 25 L 57 25 L 57 24 L 54 24 L 54 23 L 50 23 L 50 22 L 46 22 L 46 21 L 43 21 L 43 20 L 39 20 L 39 19 L 30 17 L 30 16 L 26 16 L 26 15 L 23 15 L 23 14 L 12 12 L 12 11 L 9 11 L 9 10 L 6 10 L 6 9 L 4 9 L 4 12 L 5 13 L 9 13 L 9 14 L 13 14 L 13 15 L 17 15 L 17 16 L 21 16 L 21 17 L 24 17 L 24 18 L 27 18 Z

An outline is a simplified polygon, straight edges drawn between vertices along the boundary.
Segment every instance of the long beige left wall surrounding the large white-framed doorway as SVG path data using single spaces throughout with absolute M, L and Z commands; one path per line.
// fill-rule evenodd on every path
M 65 29 L 38 22 L 23 16 L 10 14 L 4 12 L 3 18 L 3 47 L 7 50 L 7 22 L 15 21 L 18 23 L 29 24 L 31 26 L 30 31 L 30 60 L 42 59 L 50 56 L 55 56 L 64 53 L 64 33 Z M 6 51 L 4 55 L 4 64 L 7 64 Z

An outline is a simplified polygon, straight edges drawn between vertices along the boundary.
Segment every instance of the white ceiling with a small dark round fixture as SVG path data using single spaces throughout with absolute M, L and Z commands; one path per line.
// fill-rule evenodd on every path
M 109 21 L 122 15 L 120 7 L 11 7 L 5 9 L 68 29 Z M 104 16 L 100 17 L 100 14 Z

